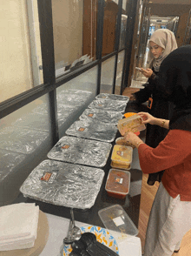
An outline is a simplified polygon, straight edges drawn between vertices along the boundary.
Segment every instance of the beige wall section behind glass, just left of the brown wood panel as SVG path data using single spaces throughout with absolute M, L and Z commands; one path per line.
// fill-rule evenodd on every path
M 53 0 L 55 62 L 71 64 L 82 56 L 83 1 Z

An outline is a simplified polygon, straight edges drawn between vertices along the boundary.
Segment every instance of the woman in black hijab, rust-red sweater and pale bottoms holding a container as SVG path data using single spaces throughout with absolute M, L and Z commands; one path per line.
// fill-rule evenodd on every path
M 191 45 L 171 52 L 161 63 L 158 90 L 175 104 L 170 120 L 139 115 L 144 124 L 169 129 L 152 148 L 133 132 L 125 139 L 138 148 L 142 172 L 165 170 L 148 220 L 144 256 L 171 256 L 191 229 Z

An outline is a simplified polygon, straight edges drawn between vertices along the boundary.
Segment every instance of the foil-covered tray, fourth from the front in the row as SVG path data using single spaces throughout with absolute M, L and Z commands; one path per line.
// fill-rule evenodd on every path
M 100 122 L 103 124 L 117 125 L 123 115 L 117 111 L 103 111 L 99 109 L 86 109 L 82 112 L 80 120 Z

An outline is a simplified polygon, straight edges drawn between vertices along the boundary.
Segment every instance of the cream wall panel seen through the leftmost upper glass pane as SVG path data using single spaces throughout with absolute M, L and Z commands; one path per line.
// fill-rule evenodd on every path
M 0 102 L 32 87 L 30 44 L 24 0 L 1 1 Z

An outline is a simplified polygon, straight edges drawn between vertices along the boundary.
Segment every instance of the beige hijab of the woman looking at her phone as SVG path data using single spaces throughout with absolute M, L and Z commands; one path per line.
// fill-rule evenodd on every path
M 164 49 L 161 56 L 158 58 L 153 57 L 151 51 L 148 52 L 148 67 L 151 69 L 154 67 L 154 70 L 157 72 L 159 71 L 162 60 L 167 57 L 171 51 L 174 51 L 177 48 L 177 43 L 174 33 L 167 29 L 155 30 L 148 41 L 148 46 L 150 41 L 158 44 Z

